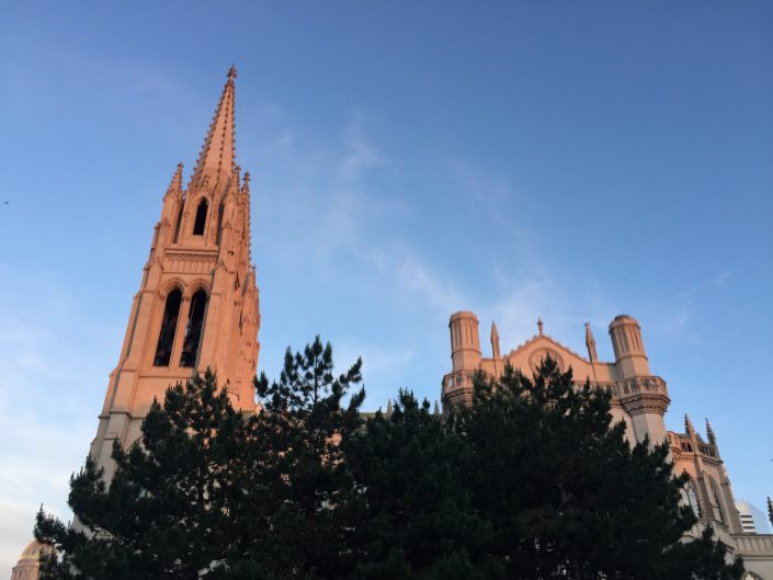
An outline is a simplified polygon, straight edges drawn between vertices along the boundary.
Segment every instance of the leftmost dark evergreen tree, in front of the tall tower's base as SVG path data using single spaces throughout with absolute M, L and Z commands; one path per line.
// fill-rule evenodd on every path
M 228 578 L 229 513 L 249 456 L 247 428 L 212 373 L 170 387 L 163 407 L 150 407 L 141 444 L 115 443 L 110 486 L 90 457 L 71 478 L 80 527 L 38 512 L 35 536 L 58 554 L 41 577 Z

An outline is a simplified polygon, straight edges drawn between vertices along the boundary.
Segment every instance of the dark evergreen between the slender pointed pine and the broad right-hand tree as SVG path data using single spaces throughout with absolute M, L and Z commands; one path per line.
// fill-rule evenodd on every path
M 485 525 L 461 485 L 459 440 L 408 391 L 389 409 L 342 442 L 361 491 L 352 520 L 355 577 L 485 578 L 467 557 Z

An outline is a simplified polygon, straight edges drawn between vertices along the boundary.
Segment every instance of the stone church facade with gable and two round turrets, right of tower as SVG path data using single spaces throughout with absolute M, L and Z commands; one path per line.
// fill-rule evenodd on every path
M 501 353 L 497 325 L 492 322 L 490 356 L 481 353 L 479 323 L 474 312 L 452 315 L 448 330 L 452 369 L 441 384 L 444 408 L 470 403 L 473 375 L 477 372 L 496 378 L 510 365 L 532 376 L 539 363 L 550 356 L 561 371 L 571 368 L 578 384 L 590 380 L 591 385 L 611 393 L 613 420 L 625 423 L 629 441 L 640 442 L 645 437 L 653 443 L 668 441 L 674 473 L 690 476 L 683 501 L 698 516 L 698 524 L 692 534 L 697 536 L 705 526 L 711 525 L 729 551 L 743 558 L 747 568 L 744 580 L 773 580 L 773 534 L 743 532 L 730 478 L 712 425 L 706 421 L 705 439 L 686 416 L 684 432 L 666 429 L 664 416 L 671 401 L 669 390 L 666 380 L 653 375 L 649 368 L 641 328 L 636 319 L 621 315 L 610 323 L 614 362 L 599 360 L 590 325 L 586 325 L 584 330 L 586 356 L 545 334 L 542 320 L 537 321 L 535 336 L 504 354 Z M 771 516 L 773 523 L 773 511 Z

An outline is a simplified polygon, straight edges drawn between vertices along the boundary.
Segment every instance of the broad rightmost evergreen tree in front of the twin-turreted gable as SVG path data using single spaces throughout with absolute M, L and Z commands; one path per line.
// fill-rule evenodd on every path
M 550 359 L 533 380 L 507 368 L 475 383 L 473 406 L 452 416 L 459 473 L 491 527 L 474 559 L 534 580 L 740 578 L 711 535 L 680 543 L 696 521 L 680 504 L 685 478 L 666 442 L 628 444 L 606 391 L 578 388 Z

